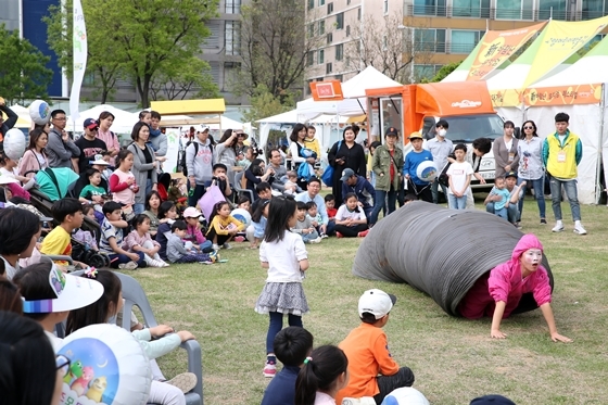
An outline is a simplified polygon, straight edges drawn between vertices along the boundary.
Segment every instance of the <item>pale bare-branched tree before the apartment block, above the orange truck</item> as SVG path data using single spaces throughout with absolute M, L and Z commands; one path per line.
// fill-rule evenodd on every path
M 403 26 L 400 13 L 383 16 L 378 21 L 372 15 L 364 16 L 353 24 L 354 40 L 346 45 L 345 68 L 357 73 L 373 66 L 398 83 L 409 83 L 411 64 L 427 64 L 431 53 L 414 40 L 413 28 Z

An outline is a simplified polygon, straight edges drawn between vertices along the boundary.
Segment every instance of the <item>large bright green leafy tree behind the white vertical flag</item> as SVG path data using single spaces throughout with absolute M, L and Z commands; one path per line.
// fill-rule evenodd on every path
M 84 0 L 88 72 L 100 76 L 104 89 L 118 77 L 132 79 L 142 106 L 149 106 L 155 75 L 188 68 L 183 61 L 197 54 L 211 35 L 204 23 L 217 14 L 217 4 L 218 0 Z M 67 5 L 51 8 L 47 18 L 49 42 L 66 68 L 72 63 L 72 9 Z M 59 28 L 62 21 L 67 22 L 66 29 Z M 99 73 L 102 68 L 104 78 Z

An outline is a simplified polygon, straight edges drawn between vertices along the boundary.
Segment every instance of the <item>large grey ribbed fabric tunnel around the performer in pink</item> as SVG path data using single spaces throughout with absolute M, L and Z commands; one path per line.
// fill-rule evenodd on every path
M 447 210 L 415 201 L 378 222 L 359 245 L 353 274 L 371 280 L 406 282 L 428 293 L 447 314 L 476 281 L 511 257 L 523 236 L 506 220 L 481 211 Z M 546 256 L 553 290 L 553 275 Z M 537 307 L 524 294 L 515 313 Z

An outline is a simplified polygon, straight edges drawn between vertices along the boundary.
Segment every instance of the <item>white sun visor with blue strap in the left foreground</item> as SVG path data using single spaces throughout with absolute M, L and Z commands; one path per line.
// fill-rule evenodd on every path
M 97 270 L 92 269 L 94 277 Z M 33 300 L 23 302 L 26 314 L 49 314 L 73 311 L 94 303 L 103 294 L 101 282 L 90 278 L 65 275 L 53 263 L 49 271 L 49 284 L 56 295 L 51 300 Z

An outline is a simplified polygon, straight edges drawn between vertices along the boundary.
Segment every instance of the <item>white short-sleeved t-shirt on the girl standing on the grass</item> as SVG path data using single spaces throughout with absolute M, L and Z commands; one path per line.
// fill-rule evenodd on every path
M 259 261 L 269 265 L 266 282 L 302 282 L 299 262 L 305 258 L 308 253 L 302 237 L 288 230 L 282 240 L 259 245 Z

